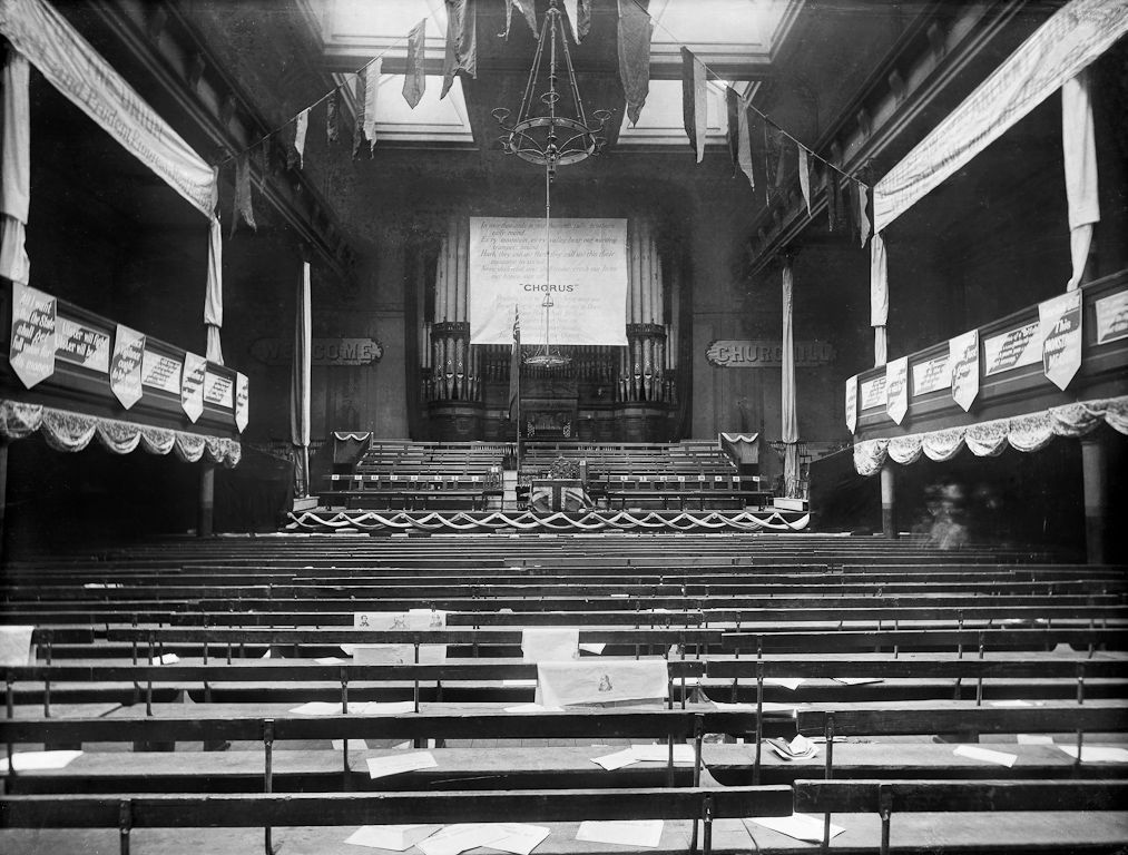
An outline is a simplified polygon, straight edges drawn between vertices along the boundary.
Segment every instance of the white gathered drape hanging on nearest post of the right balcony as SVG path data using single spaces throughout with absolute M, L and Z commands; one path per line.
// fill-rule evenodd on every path
M 1061 153 L 1065 195 L 1069 203 L 1069 256 L 1073 262 L 1066 291 L 1081 284 L 1093 243 L 1093 223 L 1101 220 L 1096 194 L 1096 140 L 1090 73 L 1085 69 L 1061 85 Z

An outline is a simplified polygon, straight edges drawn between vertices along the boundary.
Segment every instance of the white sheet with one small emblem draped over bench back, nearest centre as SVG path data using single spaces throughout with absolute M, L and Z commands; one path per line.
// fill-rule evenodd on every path
M 545 706 L 666 699 L 663 659 L 538 662 L 536 702 Z

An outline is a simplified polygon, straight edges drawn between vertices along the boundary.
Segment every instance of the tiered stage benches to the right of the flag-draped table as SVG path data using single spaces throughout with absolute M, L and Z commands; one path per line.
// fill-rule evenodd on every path
M 522 481 L 548 477 L 559 458 L 587 461 L 588 492 L 611 508 L 732 510 L 772 503 L 760 478 L 739 474 L 716 443 L 527 442 Z

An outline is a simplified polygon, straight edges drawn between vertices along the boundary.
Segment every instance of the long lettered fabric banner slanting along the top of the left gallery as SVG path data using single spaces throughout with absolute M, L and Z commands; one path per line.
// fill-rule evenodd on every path
M 214 178 L 164 118 L 43 0 L 0 0 L 0 33 L 79 109 L 204 214 Z

